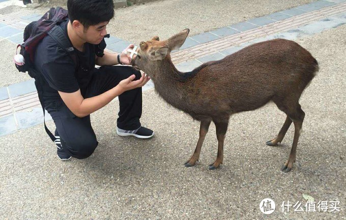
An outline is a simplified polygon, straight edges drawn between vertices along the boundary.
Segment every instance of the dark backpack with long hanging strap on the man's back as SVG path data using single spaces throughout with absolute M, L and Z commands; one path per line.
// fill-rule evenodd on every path
M 73 46 L 71 45 L 68 36 L 59 24 L 68 19 L 67 10 L 57 7 L 51 8 L 46 12 L 38 21 L 33 21 L 28 24 L 24 29 L 24 43 L 17 46 L 20 47 L 20 54 L 24 57 L 24 63 L 18 65 L 15 62 L 16 68 L 19 72 L 28 72 L 28 74 L 35 78 L 35 86 L 43 109 L 44 128 L 52 141 L 55 141 L 55 136 L 49 131 L 44 120 L 44 102 L 42 90 L 42 76 L 38 74 L 34 67 L 35 50 L 38 43 L 47 35 L 51 36 L 56 43 L 65 49 L 74 60 L 76 67 L 78 67 L 78 60 Z

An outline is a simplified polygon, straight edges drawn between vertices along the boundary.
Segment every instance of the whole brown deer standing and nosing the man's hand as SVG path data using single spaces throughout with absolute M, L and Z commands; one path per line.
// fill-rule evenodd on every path
M 155 90 L 170 105 L 200 121 L 199 138 L 194 153 L 185 163 L 193 167 L 199 160 L 201 147 L 211 121 L 216 127 L 218 151 L 209 165 L 215 170 L 223 163 L 225 134 L 231 115 L 253 111 L 272 101 L 286 114 L 275 139 L 268 146 L 281 143 L 294 123 L 294 139 L 289 158 L 281 171 L 292 170 L 305 117 L 299 99 L 319 71 L 318 62 L 298 43 L 274 39 L 249 45 L 218 61 L 201 64 L 191 72 L 180 72 L 172 63 L 170 52 L 185 42 L 189 29 L 160 41 L 158 36 L 139 44 L 133 68 L 150 76 Z

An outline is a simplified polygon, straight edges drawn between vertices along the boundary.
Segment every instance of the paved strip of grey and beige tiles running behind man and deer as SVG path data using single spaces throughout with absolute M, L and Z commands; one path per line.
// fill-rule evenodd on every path
M 346 23 L 346 0 L 317 1 L 267 16 L 189 36 L 171 54 L 180 71 L 191 71 L 211 60 L 219 60 L 252 43 L 285 38 L 294 40 L 335 28 Z M 12 13 L 0 15 L 0 39 L 22 43 L 23 29 L 42 15 Z M 19 17 L 19 19 L 18 19 Z M 2 21 L 3 20 L 3 21 Z M 107 49 L 121 52 L 131 42 L 117 37 L 106 39 Z M 149 82 L 143 91 L 153 88 Z M 51 120 L 46 114 L 46 121 Z M 34 79 L 0 88 L 0 136 L 43 123 Z

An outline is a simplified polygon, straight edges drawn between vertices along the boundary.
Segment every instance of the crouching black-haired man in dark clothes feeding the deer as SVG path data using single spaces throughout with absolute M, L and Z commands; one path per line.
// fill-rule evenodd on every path
M 49 35 L 35 52 L 35 69 L 43 76 L 44 106 L 56 126 L 57 156 L 61 160 L 89 157 L 98 145 L 90 114 L 117 96 L 117 133 L 152 137 L 154 132 L 140 124 L 141 87 L 150 78 L 131 66 L 113 66 L 130 65 L 127 54 L 104 51 L 113 0 L 68 0 L 67 4 L 69 19 L 59 25 L 74 48 L 75 59 Z

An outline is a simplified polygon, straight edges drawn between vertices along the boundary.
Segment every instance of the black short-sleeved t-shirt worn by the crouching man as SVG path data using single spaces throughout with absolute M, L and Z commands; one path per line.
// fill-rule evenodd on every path
M 60 24 L 66 36 L 68 22 L 69 20 Z M 99 45 L 85 43 L 83 52 L 74 48 L 78 59 L 78 67 L 76 67 L 77 64 L 71 55 L 57 45 L 49 35 L 46 36 L 38 44 L 35 52 L 35 69 L 41 72 L 45 79 L 42 85 L 44 100 L 61 100 L 57 91 L 73 93 L 80 89 L 84 96 L 86 87 L 93 76 L 95 56 L 97 52 L 103 52 L 105 46 L 103 39 Z

